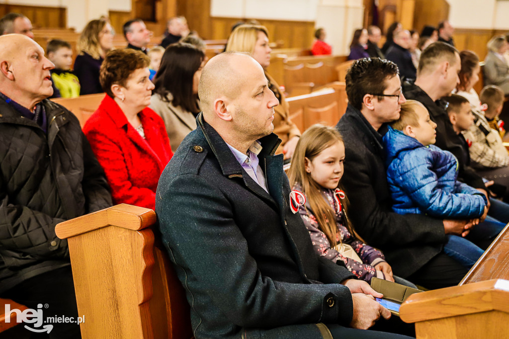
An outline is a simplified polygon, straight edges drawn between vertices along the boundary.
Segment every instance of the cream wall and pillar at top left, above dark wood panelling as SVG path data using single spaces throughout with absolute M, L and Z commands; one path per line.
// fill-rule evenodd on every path
M 81 32 L 90 20 L 108 15 L 109 10 L 130 11 L 131 0 L 2 0 L 4 4 L 67 8 L 67 25 Z

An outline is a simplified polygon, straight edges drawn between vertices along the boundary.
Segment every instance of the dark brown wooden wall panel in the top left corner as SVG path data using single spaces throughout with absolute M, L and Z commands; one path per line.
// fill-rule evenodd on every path
M 0 17 L 7 13 L 21 13 L 32 21 L 34 28 L 66 28 L 67 8 L 0 4 Z

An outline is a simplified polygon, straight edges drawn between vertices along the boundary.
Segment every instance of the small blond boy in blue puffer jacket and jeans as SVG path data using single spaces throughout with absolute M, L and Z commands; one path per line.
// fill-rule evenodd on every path
M 401 105 L 400 119 L 384 135 L 387 182 L 399 214 L 428 214 L 447 219 L 472 219 L 478 224 L 488 209 L 486 196 L 460 183 L 456 157 L 432 145 L 437 126 L 420 102 L 408 100 Z M 483 250 L 462 237 L 447 235 L 444 252 L 471 267 Z

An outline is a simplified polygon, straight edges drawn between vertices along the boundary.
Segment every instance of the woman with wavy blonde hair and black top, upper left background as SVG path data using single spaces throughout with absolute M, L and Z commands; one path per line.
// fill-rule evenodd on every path
M 106 53 L 113 49 L 115 33 L 108 21 L 90 21 L 78 39 L 78 56 L 74 62 L 74 73 L 81 85 L 80 95 L 102 93 L 99 69 Z

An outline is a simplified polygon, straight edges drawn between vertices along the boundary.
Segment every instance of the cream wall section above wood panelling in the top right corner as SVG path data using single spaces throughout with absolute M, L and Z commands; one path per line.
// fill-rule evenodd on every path
M 509 2 L 497 0 L 447 0 L 449 21 L 464 29 L 509 30 Z

